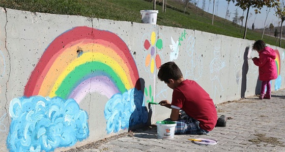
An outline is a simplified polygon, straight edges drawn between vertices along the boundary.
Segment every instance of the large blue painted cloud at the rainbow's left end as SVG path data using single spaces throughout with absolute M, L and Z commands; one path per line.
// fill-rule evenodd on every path
M 89 136 L 88 115 L 74 99 L 32 96 L 10 102 L 10 151 L 53 151 Z

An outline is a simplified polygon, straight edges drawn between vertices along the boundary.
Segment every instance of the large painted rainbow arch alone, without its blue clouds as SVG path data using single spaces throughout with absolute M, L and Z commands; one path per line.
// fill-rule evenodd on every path
M 56 37 L 31 74 L 24 96 L 59 96 L 80 103 L 89 92 L 110 98 L 135 87 L 138 70 L 116 34 L 76 27 Z M 140 90 L 140 88 L 137 88 Z

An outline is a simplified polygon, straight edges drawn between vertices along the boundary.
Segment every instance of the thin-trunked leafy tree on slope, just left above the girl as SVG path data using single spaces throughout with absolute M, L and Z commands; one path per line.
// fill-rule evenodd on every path
M 235 6 L 240 7 L 242 10 L 247 9 L 246 18 L 245 18 L 245 30 L 243 39 L 246 37 L 246 31 L 247 31 L 247 19 L 248 19 L 248 13 L 250 8 L 254 8 L 255 14 L 261 13 L 260 10 L 267 6 L 269 8 L 277 5 L 279 0 L 231 0 Z

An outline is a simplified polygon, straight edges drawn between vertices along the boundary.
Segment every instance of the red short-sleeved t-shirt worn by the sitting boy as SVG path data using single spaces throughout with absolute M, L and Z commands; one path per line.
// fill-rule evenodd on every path
M 211 131 L 217 123 L 217 111 L 210 95 L 195 81 L 184 80 L 173 90 L 172 104 L 198 120 L 200 128 Z

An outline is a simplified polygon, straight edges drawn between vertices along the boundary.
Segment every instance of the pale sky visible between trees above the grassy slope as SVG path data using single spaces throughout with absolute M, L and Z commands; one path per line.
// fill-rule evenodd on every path
M 206 0 L 206 7 L 204 11 L 208 12 L 208 8 L 209 8 L 208 13 L 212 14 L 213 13 L 213 2 L 214 0 L 211 0 L 210 5 L 209 5 L 209 0 Z M 198 0 L 198 7 L 202 8 L 202 6 L 203 6 L 203 0 Z M 225 18 L 226 8 L 227 8 L 227 2 L 225 0 L 215 0 L 214 15 Z M 245 18 L 246 18 L 247 10 L 244 11 L 244 15 L 243 15 L 243 10 L 235 6 L 233 2 L 230 2 L 230 5 L 229 5 L 229 10 L 231 13 L 229 20 L 231 21 L 233 20 L 233 17 L 235 16 L 235 13 L 236 13 L 236 9 L 238 9 L 238 16 L 244 16 L 243 26 L 245 26 Z M 268 28 L 270 23 L 272 23 L 274 27 L 280 26 L 279 25 L 280 19 L 276 17 L 275 11 L 273 8 L 270 9 L 268 17 L 266 19 L 266 14 L 267 14 L 266 9 L 267 7 L 264 7 L 261 9 L 260 14 L 255 14 L 254 8 L 250 8 L 249 13 L 248 13 L 247 27 L 251 29 L 252 23 L 254 23 L 255 29 L 262 29 L 264 27 Z M 265 22 L 265 19 L 266 19 L 266 22 Z M 239 24 L 241 24 L 241 22 Z

